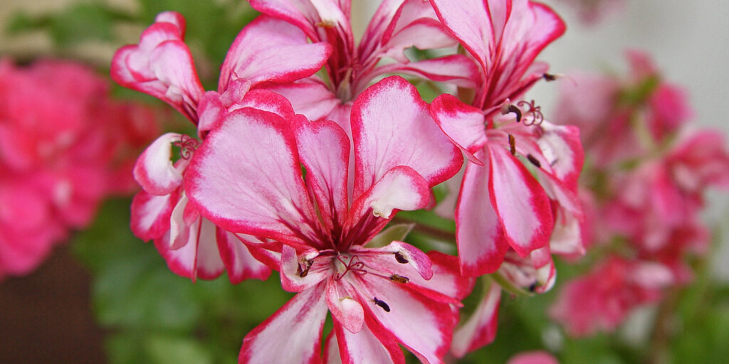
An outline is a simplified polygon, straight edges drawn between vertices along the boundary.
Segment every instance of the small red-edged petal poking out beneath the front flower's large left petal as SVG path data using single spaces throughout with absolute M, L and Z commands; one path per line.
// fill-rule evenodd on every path
M 234 285 L 251 278 L 266 280 L 271 269 L 252 256 L 248 246 L 235 234 L 218 228 L 216 232 L 220 258 L 225 264 L 228 280 Z

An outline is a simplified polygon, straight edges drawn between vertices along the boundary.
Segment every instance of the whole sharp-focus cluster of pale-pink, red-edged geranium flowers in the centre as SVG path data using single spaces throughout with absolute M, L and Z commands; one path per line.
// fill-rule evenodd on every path
M 241 363 L 404 363 L 400 346 L 443 363 L 488 344 L 502 287 L 544 292 L 552 253 L 582 253 L 579 132 L 521 99 L 555 79 L 534 59 L 564 23 L 527 0 L 385 0 L 356 44 L 349 1 L 250 3 L 262 15 L 230 47 L 217 91 L 203 90 L 174 12 L 114 56 L 117 82 L 197 127 L 137 160 L 133 232 L 192 280 L 278 271 L 297 293 L 243 339 Z M 429 104 L 390 74 L 457 95 Z M 458 189 L 457 258 L 387 227 L 434 207 L 445 181 Z M 482 307 L 459 327 L 484 274 L 499 283 L 483 278 Z

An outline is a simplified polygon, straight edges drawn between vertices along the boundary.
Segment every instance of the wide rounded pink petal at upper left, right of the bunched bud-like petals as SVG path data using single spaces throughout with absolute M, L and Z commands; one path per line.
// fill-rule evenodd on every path
M 261 15 L 241 31 L 220 70 L 219 92 L 233 79 L 293 82 L 319 71 L 332 50 L 326 43 L 309 43 L 295 25 Z

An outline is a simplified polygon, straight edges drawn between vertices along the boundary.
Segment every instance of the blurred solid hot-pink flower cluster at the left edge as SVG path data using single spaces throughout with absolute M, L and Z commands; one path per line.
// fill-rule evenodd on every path
M 0 278 L 26 274 L 109 194 L 158 133 L 152 109 L 109 98 L 85 66 L 0 60 Z

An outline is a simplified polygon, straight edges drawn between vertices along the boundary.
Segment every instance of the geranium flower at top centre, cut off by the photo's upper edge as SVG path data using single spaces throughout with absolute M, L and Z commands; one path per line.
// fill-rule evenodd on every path
M 250 3 L 266 15 L 296 25 L 312 41 L 332 45 L 332 56 L 324 68 L 326 76 L 315 75 L 270 90 L 291 100 L 297 113 L 311 120 L 333 120 L 348 134 L 352 101 L 380 76 L 398 73 L 461 87 L 475 84 L 475 64 L 463 55 L 418 61 L 410 61 L 405 55 L 410 47 L 433 50 L 457 44 L 426 1 L 382 1 L 359 45 L 351 28 L 350 0 Z

